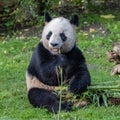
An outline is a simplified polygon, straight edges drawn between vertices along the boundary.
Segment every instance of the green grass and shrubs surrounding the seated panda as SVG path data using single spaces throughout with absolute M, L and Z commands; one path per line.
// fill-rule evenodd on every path
M 41 8 L 38 13 L 33 10 L 38 9 L 33 0 L 3 1 L 8 2 L 5 3 L 7 6 L 2 6 L 0 2 L 0 10 L 4 8 L 0 15 L 0 120 L 57 120 L 57 115 L 29 104 L 25 83 L 25 71 L 44 25 L 44 10 L 48 9 L 54 17 L 62 15 L 70 18 L 73 13 L 79 15 L 77 45 L 86 57 L 92 84 L 120 80 L 119 76 L 110 75 L 113 63 L 108 62 L 105 54 L 115 43 L 120 42 L 119 1 L 105 1 L 99 4 L 88 1 L 89 4 L 84 7 L 83 1 L 79 0 L 65 1 L 62 6 L 58 0 L 43 0 L 40 4 L 45 8 Z M 12 2 L 17 5 L 15 9 L 10 6 Z M 24 14 L 26 5 L 33 6 L 28 7 L 29 12 L 32 10 L 32 17 L 26 17 L 28 13 Z M 61 120 L 119 120 L 120 106 L 98 107 L 90 104 L 73 108 L 68 113 L 62 112 L 60 117 Z

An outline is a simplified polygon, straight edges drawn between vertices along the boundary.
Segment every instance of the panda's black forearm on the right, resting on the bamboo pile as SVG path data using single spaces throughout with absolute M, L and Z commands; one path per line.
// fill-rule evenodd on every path
M 90 74 L 85 63 L 76 66 L 76 73 L 69 81 L 69 90 L 75 94 L 82 93 L 90 85 Z

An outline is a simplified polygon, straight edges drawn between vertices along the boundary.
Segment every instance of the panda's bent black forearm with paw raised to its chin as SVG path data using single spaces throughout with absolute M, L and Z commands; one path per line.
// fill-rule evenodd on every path
M 51 61 L 46 61 L 37 68 L 39 79 L 42 78 L 42 82 L 51 86 L 59 85 L 61 75 L 58 74 L 57 68 L 65 68 L 68 64 L 65 55 L 54 55 Z

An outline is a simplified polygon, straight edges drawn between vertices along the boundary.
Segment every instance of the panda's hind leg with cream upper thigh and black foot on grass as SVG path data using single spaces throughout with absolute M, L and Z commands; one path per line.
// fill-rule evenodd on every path
M 35 76 L 26 73 L 26 84 L 28 99 L 34 107 L 45 107 L 49 111 L 57 113 L 59 110 L 59 97 L 53 93 L 55 87 L 47 86 L 40 82 Z M 71 104 L 62 102 L 61 110 L 69 111 Z

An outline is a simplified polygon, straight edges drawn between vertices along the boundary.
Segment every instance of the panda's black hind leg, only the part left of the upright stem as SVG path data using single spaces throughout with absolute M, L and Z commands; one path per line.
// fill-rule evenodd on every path
M 51 94 L 47 90 L 40 88 L 32 88 L 28 92 L 28 99 L 34 107 L 45 107 L 48 108 L 50 111 L 50 108 L 53 108 L 55 112 L 58 109 L 57 96 Z

